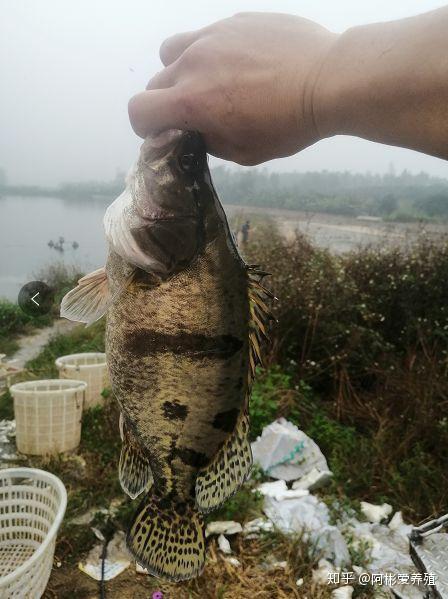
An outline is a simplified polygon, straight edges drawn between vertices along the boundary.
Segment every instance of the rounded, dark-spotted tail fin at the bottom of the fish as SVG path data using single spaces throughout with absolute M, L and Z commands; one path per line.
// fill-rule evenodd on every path
M 127 545 L 150 574 L 173 582 L 189 580 L 204 568 L 204 521 L 192 501 L 147 495 L 129 528 Z

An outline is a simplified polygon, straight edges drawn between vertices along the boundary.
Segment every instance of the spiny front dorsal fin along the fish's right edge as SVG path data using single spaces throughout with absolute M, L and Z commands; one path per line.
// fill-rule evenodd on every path
M 269 342 L 269 322 L 274 320 L 266 298 L 275 299 L 272 293 L 262 285 L 261 281 L 268 273 L 259 270 L 257 266 L 248 267 L 249 279 L 249 389 L 251 388 L 255 369 L 263 366 L 262 348 Z

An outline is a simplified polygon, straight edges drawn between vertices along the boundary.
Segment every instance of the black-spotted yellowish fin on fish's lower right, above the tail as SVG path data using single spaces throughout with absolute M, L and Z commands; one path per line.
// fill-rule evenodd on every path
M 196 478 L 196 505 L 209 512 L 238 491 L 250 474 L 252 450 L 249 443 L 249 416 L 244 412 L 234 432 L 213 461 Z

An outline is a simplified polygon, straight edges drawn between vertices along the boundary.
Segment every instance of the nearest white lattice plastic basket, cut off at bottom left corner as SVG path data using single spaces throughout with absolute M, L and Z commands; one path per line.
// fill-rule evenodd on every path
M 0 597 L 37 599 L 53 565 L 67 493 L 53 474 L 34 468 L 0 471 Z

